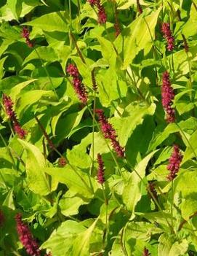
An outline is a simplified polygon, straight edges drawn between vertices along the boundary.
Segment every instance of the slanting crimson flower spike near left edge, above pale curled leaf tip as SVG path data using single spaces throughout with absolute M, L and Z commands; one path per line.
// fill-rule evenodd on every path
M 12 122 L 15 133 L 17 133 L 17 136 L 19 136 L 20 139 L 24 139 L 27 135 L 27 132 L 23 128 L 21 128 L 20 123 L 17 120 L 17 115 L 13 110 L 14 103 L 12 102 L 12 99 L 6 94 L 3 94 L 3 104 L 5 107 L 5 111 Z

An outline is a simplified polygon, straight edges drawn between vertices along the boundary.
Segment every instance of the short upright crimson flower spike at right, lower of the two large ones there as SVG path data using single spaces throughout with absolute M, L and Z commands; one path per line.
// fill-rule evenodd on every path
M 167 179 L 172 181 L 175 177 L 177 177 L 177 173 L 180 169 L 180 163 L 182 161 L 182 154 L 180 152 L 180 148 L 177 145 L 174 145 L 172 150 L 172 155 L 169 158 L 169 164 L 167 169 L 169 170 L 169 175 Z

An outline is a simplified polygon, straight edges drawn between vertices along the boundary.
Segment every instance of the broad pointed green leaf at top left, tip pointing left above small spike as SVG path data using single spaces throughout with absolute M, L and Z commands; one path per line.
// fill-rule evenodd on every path
M 65 18 L 66 12 L 51 12 L 39 18 L 23 23 L 23 25 L 41 28 L 43 31 L 68 32 L 68 23 Z

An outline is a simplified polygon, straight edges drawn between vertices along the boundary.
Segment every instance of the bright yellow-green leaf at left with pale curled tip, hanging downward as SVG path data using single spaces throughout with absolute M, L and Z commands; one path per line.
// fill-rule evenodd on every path
M 28 187 L 34 193 L 39 195 L 48 195 L 50 190 L 49 180 L 44 174 L 43 168 L 46 166 L 46 160 L 40 150 L 32 144 L 18 139 L 20 144 L 25 147 L 27 158 L 25 161 L 25 170 L 27 173 Z

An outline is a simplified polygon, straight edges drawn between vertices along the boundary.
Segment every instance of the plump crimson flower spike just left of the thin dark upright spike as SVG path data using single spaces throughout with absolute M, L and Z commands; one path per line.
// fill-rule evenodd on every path
M 66 69 L 68 74 L 70 74 L 71 77 L 73 77 L 73 88 L 76 91 L 76 94 L 79 98 L 79 100 L 83 103 L 87 103 L 87 91 L 84 86 L 84 84 L 81 82 L 81 78 L 79 76 L 79 70 L 77 67 L 73 64 L 69 64 L 68 68 Z

